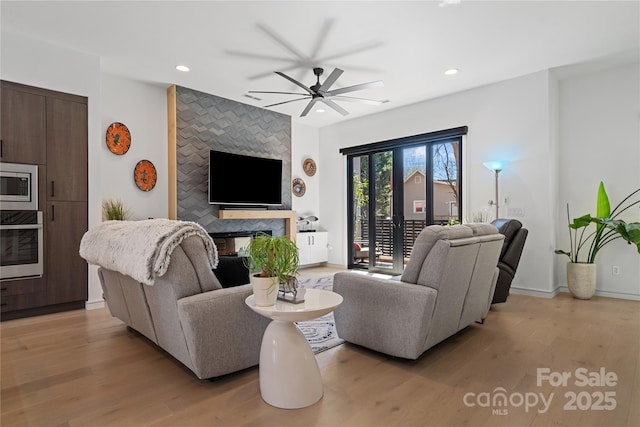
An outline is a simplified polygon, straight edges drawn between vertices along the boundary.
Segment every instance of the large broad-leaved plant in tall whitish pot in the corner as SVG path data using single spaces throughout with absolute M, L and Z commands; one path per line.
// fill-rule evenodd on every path
M 567 286 L 569 292 L 579 299 L 589 299 L 596 291 L 596 256 L 600 250 L 617 239 L 623 239 L 636 246 L 640 253 L 640 222 L 627 223 L 618 216 L 627 209 L 640 204 L 640 188 L 633 191 L 616 205 L 613 210 L 609 197 L 600 182 L 596 216 L 590 214 L 574 218 L 571 222 L 569 205 L 567 204 L 567 221 L 569 222 L 570 250 L 557 249 L 556 254 L 569 257 L 567 263 Z M 590 230 L 591 224 L 594 229 Z M 581 252 L 581 250 L 584 251 Z M 580 254 L 586 252 L 586 258 Z

